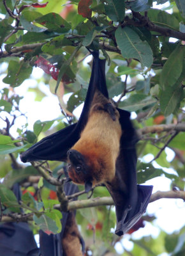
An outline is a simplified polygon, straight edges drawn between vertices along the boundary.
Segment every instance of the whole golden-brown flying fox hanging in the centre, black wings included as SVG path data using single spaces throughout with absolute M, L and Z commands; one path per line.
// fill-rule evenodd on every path
M 78 122 L 43 138 L 20 158 L 24 163 L 67 161 L 71 180 L 85 184 L 86 191 L 104 184 L 115 203 L 115 234 L 122 236 L 144 214 L 152 186 L 137 185 L 137 132 L 130 113 L 108 99 L 105 60 L 100 60 L 99 52 L 92 54 L 91 79 Z

